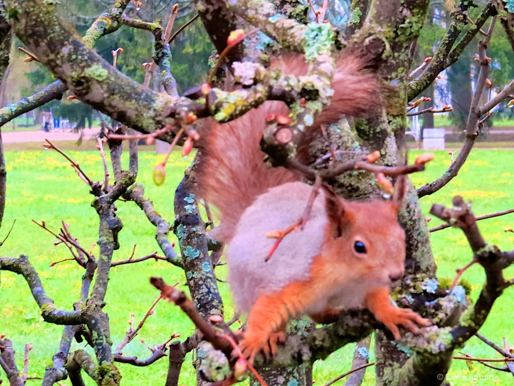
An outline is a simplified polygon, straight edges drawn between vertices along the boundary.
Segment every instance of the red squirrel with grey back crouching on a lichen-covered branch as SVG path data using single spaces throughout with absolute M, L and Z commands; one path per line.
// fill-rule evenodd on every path
M 272 63 L 282 74 L 302 75 L 303 56 Z M 345 49 L 336 65 L 329 106 L 310 128 L 342 114 L 362 116 L 376 104 L 380 85 L 369 60 Z M 398 326 L 412 332 L 427 319 L 390 301 L 390 285 L 404 273 L 405 232 L 397 214 L 405 190 L 398 178 L 391 201 L 346 201 L 320 189 L 303 230 L 286 235 L 269 260 L 271 231 L 290 227 L 305 211 L 313 187 L 284 167 L 268 167 L 260 141 L 266 116 L 289 114 L 281 101 L 265 101 L 243 116 L 218 124 L 207 119 L 197 169 L 198 193 L 221 214 L 211 236 L 227 245 L 228 279 L 238 312 L 248 314 L 240 347 L 253 362 L 262 349 L 274 355 L 291 318 L 324 322 L 341 308 L 369 309 L 395 339 Z M 307 134 L 308 136 L 309 134 Z M 403 182 L 403 183 L 401 183 Z

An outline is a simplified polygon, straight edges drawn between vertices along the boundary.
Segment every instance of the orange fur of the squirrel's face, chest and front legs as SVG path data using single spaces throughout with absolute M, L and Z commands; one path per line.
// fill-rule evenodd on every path
M 308 278 L 261 294 L 251 307 L 241 342 L 250 361 L 261 349 L 266 355 L 273 354 L 274 335 L 282 332 L 289 319 L 307 314 L 317 322 L 334 322 L 341 304 L 368 308 L 395 339 L 400 337 L 398 325 L 413 332 L 419 330 L 416 324 L 430 325 L 416 312 L 395 307 L 390 301 L 389 277 L 403 273 L 405 258 L 405 235 L 396 221 L 396 203 L 343 203 L 328 196 L 326 208 L 332 213 L 327 214 L 330 221 L 321 240 L 322 253 L 313 258 Z M 391 233 L 382 240 L 378 235 L 384 226 Z M 355 237 L 367 246 L 366 256 L 352 252 Z M 395 251 L 396 255 L 392 255 Z

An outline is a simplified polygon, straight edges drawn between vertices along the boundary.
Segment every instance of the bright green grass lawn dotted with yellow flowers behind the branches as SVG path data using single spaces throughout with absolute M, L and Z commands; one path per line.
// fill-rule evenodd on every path
M 411 151 L 414 157 L 419 152 Z M 71 151 L 69 155 L 80 163 L 88 176 L 93 180 L 103 179 L 103 166 L 94 151 Z M 126 154 L 124 161 L 126 162 Z M 183 170 L 190 161 L 183 160 L 175 152 L 167 167 L 168 178 L 162 186 L 152 182 L 153 166 L 160 161 L 161 156 L 152 152 L 140 153 L 140 170 L 138 181 L 145 186 L 146 196 L 151 198 L 158 212 L 168 221 L 173 222 L 173 194 L 180 181 Z M 58 307 L 69 309 L 78 300 L 80 280 L 83 274 L 81 268 L 71 262 L 64 262 L 50 268 L 53 261 L 68 258 L 65 247 L 54 247 L 52 236 L 31 222 L 45 220 L 47 226 L 57 229 L 61 220 L 70 224 L 71 233 L 79 238 L 86 248 L 98 239 L 98 217 L 90 207 L 92 200 L 88 187 L 78 179 L 69 164 L 57 153 L 51 151 L 11 151 L 6 153 L 7 163 L 7 208 L 3 227 L 0 234 L 5 235 L 14 219 L 16 224 L 11 236 L 2 246 L 3 256 L 26 254 L 39 272 L 47 293 L 53 298 Z M 421 186 L 438 178 L 449 166 L 450 158 L 447 152 L 436 152 L 436 159 L 428 165 L 427 171 L 413 176 L 413 183 Z M 514 172 L 514 152 L 511 150 L 475 150 L 461 175 L 456 177 L 443 191 L 422 199 L 426 213 L 432 203 L 449 205 L 454 195 L 462 195 L 472 199 L 475 215 L 497 212 L 514 205 L 514 189 L 512 181 Z M 121 248 L 115 251 L 114 260 L 122 260 L 130 256 L 134 244 L 137 244 L 136 256 L 143 256 L 158 251 L 154 239 L 155 228 L 146 220 L 141 210 L 131 202 L 118 202 L 118 215 L 124 227 L 120 232 Z M 440 221 L 432 220 L 431 226 Z M 504 225 L 514 226 L 514 215 L 494 218 L 480 222 L 480 227 L 486 240 L 498 244 L 507 250 L 514 248 L 510 233 L 503 232 Z M 174 239 L 174 236 L 170 236 Z M 434 256 L 438 264 L 440 277 L 453 277 L 455 269 L 463 267 L 470 259 L 471 252 L 462 232 L 447 229 L 432 234 Z M 94 249 L 98 253 L 98 247 Z M 217 274 L 226 277 L 221 267 Z M 514 270 L 509 271 L 510 276 Z M 112 270 L 111 281 L 107 291 L 105 311 L 111 320 L 111 335 L 114 346 L 123 338 L 128 327 L 132 312 L 136 314 L 136 323 L 156 299 L 158 293 L 148 283 L 150 276 L 163 276 L 170 283 L 179 282 L 181 289 L 185 286 L 185 276 L 173 266 L 162 261 L 147 260 L 137 265 L 115 267 Z M 473 285 L 472 296 L 476 299 L 484 274 L 480 267 L 473 267 L 464 276 Z M 232 317 L 233 309 L 227 284 L 219 283 L 220 290 L 226 302 L 226 315 Z M 511 328 L 512 309 L 511 297 L 514 290 L 509 289 L 495 304 L 493 314 L 488 319 L 481 332 L 489 339 L 501 344 L 505 337 L 510 345 L 514 345 L 514 330 Z M 144 338 L 146 344 L 153 346 L 166 341 L 171 334 L 178 333 L 182 337 L 191 334 L 193 325 L 187 317 L 169 303 L 161 302 L 156 313 L 146 322 L 136 339 L 126 346 L 126 355 L 138 355 L 146 358 L 151 353 L 140 342 Z M 18 364 L 22 364 L 23 346 L 27 342 L 33 344 L 30 352 L 30 376 L 43 376 L 45 365 L 51 363 L 51 356 L 56 352 L 62 327 L 47 324 L 42 321 L 27 284 L 20 276 L 10 272 L 2 272 L 0 277 L 0 334 L 5 333 L 13 340 L 17 350 Z M 84 348 L 85 344 L 74 343 L 72 349 Z M 463 352 L 479 357 L 497 358 L 495 352 L 477 339 L 471 340 Z M 353 345 L 348 345 L 332 354 L 323 362 L 317 362 L 314 367 L 316 384 L 322 385 L 351 367 Z M 180 383 L 195 384 L 195 373 L 191 366 L 191 355 L 186 358 Z M 167 358 L 163 358 L 150 367 L 133 367 L 119 364 L 123 375 L 122 384 L 131 385 L 162 385 L 166 378 Z M 466 363 L 455 361 L 451 367 L 450 376 L 490 376 L 497 382 L 486 380 L 454 380 L 453 385 L 490 385 L 508 384 L 512 376 L 507 373 L 494 372 L 482 365 L 476 365 L 472 371 Z M 93 384 L 84 376 L 87 384 Z M 36 381 L 32 381 L 36 382 Z M 69 385 L 69 381 L 62 384 Z M 374 384 L 374 371 L 368 369 L 365 378 L 366 385 Z

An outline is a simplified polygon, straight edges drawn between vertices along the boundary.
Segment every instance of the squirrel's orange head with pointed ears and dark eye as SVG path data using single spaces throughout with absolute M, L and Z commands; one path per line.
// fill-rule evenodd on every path
M 325 190 L 328 225 L 323 255 L 346 279 L 389 286 L 403 276 L 405 231 L 397 215 L 405 185 L 405 176 L 400 176 L 390 201 L 345 201 Z

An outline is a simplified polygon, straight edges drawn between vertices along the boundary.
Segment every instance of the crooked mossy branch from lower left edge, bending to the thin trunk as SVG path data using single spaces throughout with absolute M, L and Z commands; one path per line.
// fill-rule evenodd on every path
M 84 323 L 84 318 L 80 311 L 58 310 L 53 300 L 46 294 L 43 284 L 34 267 L 30 264 L 27 256 L 21 255 L 19 258 L 0 257 L 0 270 L 11 271 L 22 275 L 29 285 L 32 296 L 41 308 L 41 315 L 48 323 L 75 325 Z

